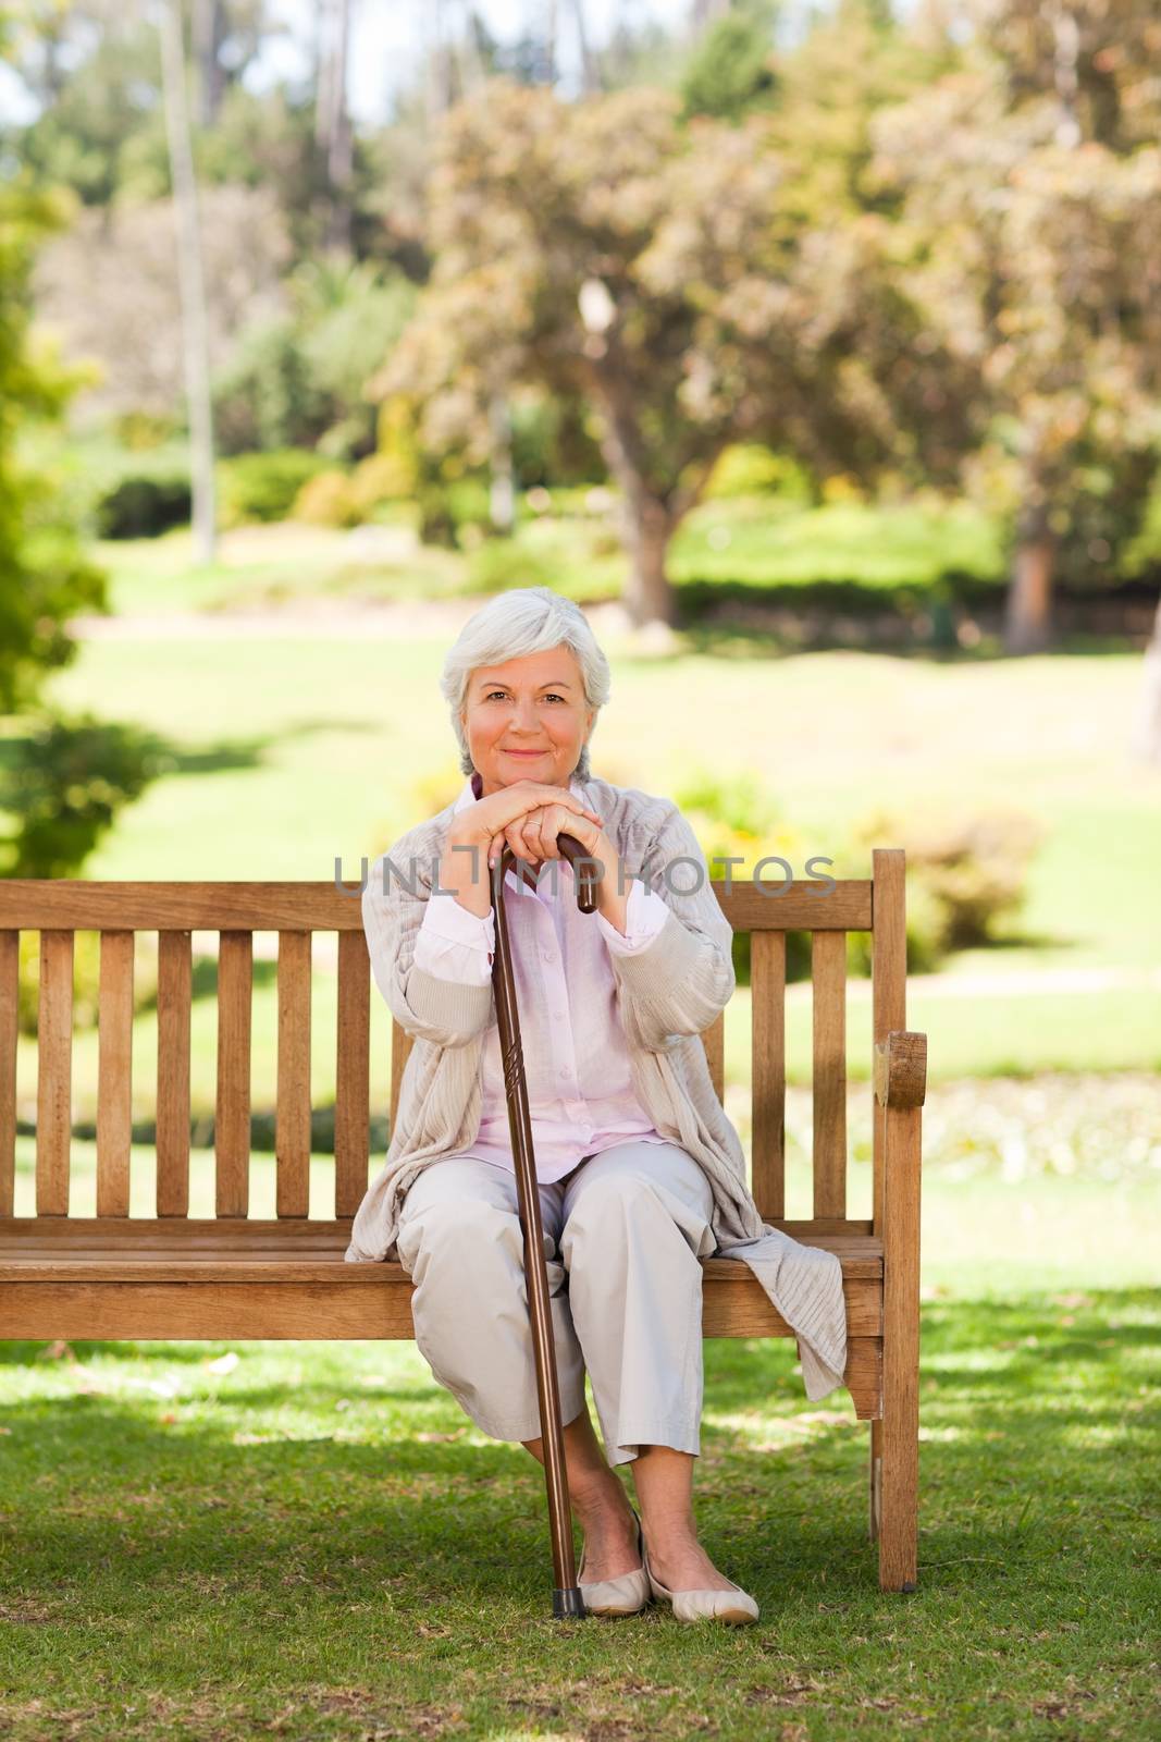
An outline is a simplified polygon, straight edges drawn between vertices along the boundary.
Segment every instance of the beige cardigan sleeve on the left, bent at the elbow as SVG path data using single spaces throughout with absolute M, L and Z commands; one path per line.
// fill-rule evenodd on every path
M 466 1047 L 487 1028 L 491 979 L 480 984 L 440 979 L 414 960 L 430 883 L 425 881 L 428 868 L 407 854 L 409 841 L 411 836 L 404 836 L 374 861 L 362 892 L 371 972 L 392 1016 L 409 1035 L 437 1047 Z M 385 878 L 386 861 L 395 869 Z M 414 894 L 409 881 L 416 883 Z

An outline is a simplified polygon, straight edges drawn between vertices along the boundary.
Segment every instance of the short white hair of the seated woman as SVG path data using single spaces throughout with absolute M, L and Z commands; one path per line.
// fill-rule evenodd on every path
M 503 665 L 510 658 L 548 653 L 559 646 L 566 646 L 576 657 L 585 706 L 599 712 L 609 700 L 609 662 L 597 646 L 588 618 L 573 599 L 562 598 L 552 587 L 510 587 L 466 620 L 444 660 L 439 681 L 451 707 L 460 766 L 465 773 L 475 772 L 460 719 L 472 672 L 480 665 Z M 588 742 L 585 742 L 573 773 L 578 780 L 587 780 L 590 772 Z

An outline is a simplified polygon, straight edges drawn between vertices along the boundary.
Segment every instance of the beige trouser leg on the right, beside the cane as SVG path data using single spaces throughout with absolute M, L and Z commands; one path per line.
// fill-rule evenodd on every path
M 609 1463 L 701 1449 L 701 1265 L 714 1195 L 674 1143 L 621 1143 L 564 1190 L 560 1256 Z

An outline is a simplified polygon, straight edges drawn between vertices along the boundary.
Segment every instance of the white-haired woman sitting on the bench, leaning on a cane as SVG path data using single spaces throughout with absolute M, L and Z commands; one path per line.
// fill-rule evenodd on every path
M 451 648 L 442 690 L 468 780 L 374 862 L 364 892 L 376 984 L 416 1045 L 346 1258 L 397 1254 L 439 1383 L 484 1434 L 543 1463 L 491 993 L 491 868 L 507 841 L 578 1583 L 594 1613 L 630 1615 L 653 1596 L 681 1620 L 752 1622 L 755 1601 L 700 1545 L 691 1502 L 698 1261 L 719 1232 L 768 1232 L 698 1038 L 733 991 L 733 934 L 677 808 L 590 773 L 609 669 L 574 604 L 547 587 L 493 599 Z M 559 834 L 602 866 L 595 915 L 580 913 Z M 651 887 L 674 862 L 679 887 Z

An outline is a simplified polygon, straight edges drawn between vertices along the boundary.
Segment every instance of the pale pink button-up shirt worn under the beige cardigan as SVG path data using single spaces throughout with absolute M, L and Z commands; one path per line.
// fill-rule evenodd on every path
M 571 791 L 583 800 L 576 780 Z M 480 794 L 482 782 L 473 773 L 453 817 Z M 648 949 L 665 925 L 667 904 L 634 878 L 621 934 L 602 913 L 580 911 L 573 868 L 562 859 L 545 862 L 536 888 L 510 869 L 505 890 L 536 1178 L 560 1179 L 587 1155 L 616 1143 L 668 1143 L 634 1092 L 609 965 L 609 951 Z M 454 895 L 432 892 L 416 934 L 419 967 L 437 979 L 489 984 L 494 948 L 491 908 L 480 918 Z M 479 1136 L 466 1153 L 513 1172 L 496 1023 L 484 1035 L 482 1096 Z

